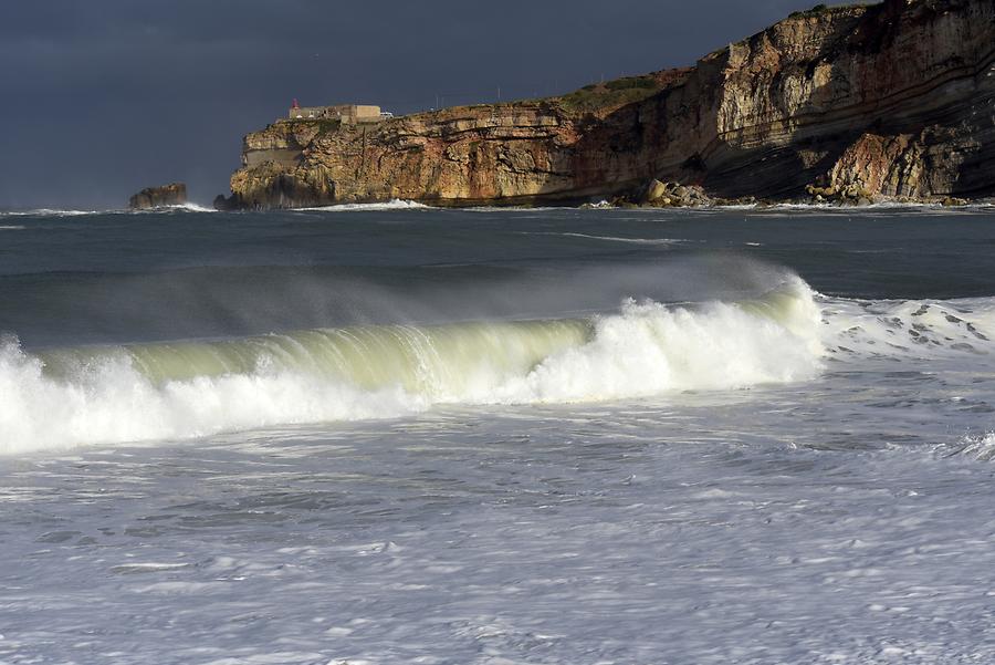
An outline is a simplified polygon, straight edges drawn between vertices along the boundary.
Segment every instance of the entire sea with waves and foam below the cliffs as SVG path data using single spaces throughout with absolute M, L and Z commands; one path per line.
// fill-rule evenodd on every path
M 0 214 L 0 663 L 995 662 L 995 207 Z

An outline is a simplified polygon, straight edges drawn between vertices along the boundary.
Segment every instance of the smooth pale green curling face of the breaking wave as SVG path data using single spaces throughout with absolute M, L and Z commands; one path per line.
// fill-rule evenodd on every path
M 46 373 L 60 377 L 117 360 L 155 384 L 290 372 L 364 389 L 400 386 L 409 393 L 457 398 L 484 377 L 526 374 L 544 359 L 585 344 L 593 331 L 586 320 L 371 325 L 218 342 L 62 349 L 39 356 Z

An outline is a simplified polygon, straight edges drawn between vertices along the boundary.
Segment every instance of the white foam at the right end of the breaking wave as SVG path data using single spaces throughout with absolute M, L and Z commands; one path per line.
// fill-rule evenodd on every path
M 496 392 L 502 401 L 574 402 L 725 389 L 811 378 L 821 368 L 811 300 L 757 315 L 737 304 L 700 310 L 627 302 L 590 342 L 553 355 Z

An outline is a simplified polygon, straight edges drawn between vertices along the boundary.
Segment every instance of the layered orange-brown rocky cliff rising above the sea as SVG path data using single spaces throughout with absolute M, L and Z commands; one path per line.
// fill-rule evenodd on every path
M 700 60 L 564 97 L 245 137 L 232 202 L 995 194 L 995 1 L 816 9 Z

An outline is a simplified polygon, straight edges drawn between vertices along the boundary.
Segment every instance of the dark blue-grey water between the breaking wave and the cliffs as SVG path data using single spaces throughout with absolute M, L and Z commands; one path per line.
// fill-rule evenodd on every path
M 985 297 L 991 208 L 369 210 L 7 216 L 0 331 L 28 347 L 365 322 L 568 314 L 750 289 Z M 694 261 L 688 272 L 674 267 Z M 692 274 L 692 277 L 689 277 Z

